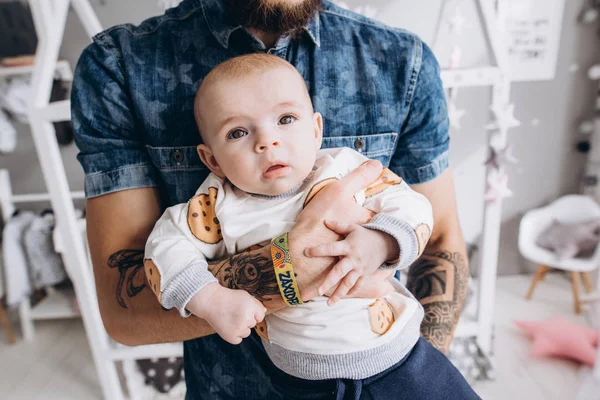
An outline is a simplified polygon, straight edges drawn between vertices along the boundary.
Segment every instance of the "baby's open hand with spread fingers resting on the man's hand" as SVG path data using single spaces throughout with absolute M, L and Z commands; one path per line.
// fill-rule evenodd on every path
M 339 257 L 319 287 L 319 295 L 323 295 L 337 285 L 327 301 L 332 306 L 351 289 L 356 291 L 363 277 L 370 276 L 385 261 L 397 257 L 399 250 L 396 240 L 384 232 L 337 221 L 325 221 L 325 225 L 346 238 L 306 249 L 305 254 L 308 257 Z

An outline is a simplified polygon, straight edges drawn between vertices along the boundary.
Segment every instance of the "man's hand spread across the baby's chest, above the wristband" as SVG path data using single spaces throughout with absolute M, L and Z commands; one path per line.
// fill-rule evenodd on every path
M 325 220 L 365 224 L 373 212 L 359 206 L 354 194 L 377 180 L 383 167 L 379 161 L 368 161 L 342 179 L 325 186 L 298 216 L 289 232 L 289 246 L 296 280 L 302 300 L 316 297 L 334 257 L 309 258 L 304 250 L 337 240 L 338 235 L 325 226 Z

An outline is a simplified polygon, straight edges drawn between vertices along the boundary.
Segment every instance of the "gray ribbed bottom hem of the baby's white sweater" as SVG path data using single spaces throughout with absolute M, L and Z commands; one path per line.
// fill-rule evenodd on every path
M 414 299 L 400 282 L 390 279 L 394 287 Z M 369 350 L 346 354 L 312 354 L 288 350 L 263 340 L 273 364 L 286 374 L 301 379 L 365 379 L 385 371 L 402 360 L 415 346 L 421 334 L 423 307 L 419 304 L 412 318 L 396 338 Z

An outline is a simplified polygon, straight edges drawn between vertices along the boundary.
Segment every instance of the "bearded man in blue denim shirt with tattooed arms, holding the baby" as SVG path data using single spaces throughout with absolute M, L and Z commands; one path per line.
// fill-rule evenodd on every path
M 315 110 L 324 116 L 323 147 L 348 146 L 378 159 L 432 203 L 434 232 L 408 272 L 408 287 L 425 307 L 422 335 L 447 351 L 466 295 L 468 266 L 447 169 L 439 67 L 414 35 L 320 0 L 186 0 L 139 27 L 99 34 L 83 52 L 72 95 L 73 125 L 109 335 L 129 345 L 185 340 L 188 399 L 278 398 L 267 376 L 270 361 L 254 333 L 232 346 L 210 335 L 203 320 L 161 309 L 146 288 L 142 266 L 146 239 L 161 211 L 187 201 L 208 174 L 195 150 L 198 85 L 218 63 L 257 51 L 288 60 L 303 75 Z M 304 300 L 317 295 L 333 260 L 308 260 L 303 249 L 336 240 L 325 219 L 369 219 L 352 195 L 379 172 L 366 165 L 328 185 L 290 232 Z M 274 280 L 268 248 L 215 261 L 212 270 L 221 284 L 248 291 L 269 311 L 284 306 L 268 284 Z M 362 282 L 354 295 L 376 297 L 385 278 Z

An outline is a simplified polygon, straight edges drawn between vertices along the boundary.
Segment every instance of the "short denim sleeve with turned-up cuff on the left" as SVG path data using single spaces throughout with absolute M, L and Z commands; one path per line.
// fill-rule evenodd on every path
M 136 130 L 119 59 L 112 38 L 100 34 L 83 51 L 75 69 L 71 114 L 87 198 L 159 183 L 158 171 Z

